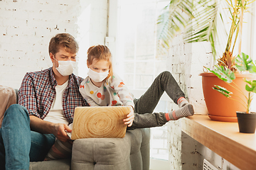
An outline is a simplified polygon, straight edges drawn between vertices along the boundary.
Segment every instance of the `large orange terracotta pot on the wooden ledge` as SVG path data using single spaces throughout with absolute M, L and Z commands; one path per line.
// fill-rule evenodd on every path
M 203 85 L 203 96 L 206 101 L 206 107 L 208 109 L 208 116 L 211 120 L 218 120 L 224 122 L 238 122 L 236 117 L 236 111 L 245 111 L 245 107 L 238 101 L 246 101 L 245 96 L 242 95 L 238 90 L 226 84 L 224 81 L 216 77 L 213 73 L 201 73 L 202 85 Z M 248 92 L 245 90 L 246 79 L 252 79 L 255 77 L 253 74 L 235 74 L 235 84 L 239 86 L 242 93 L 247 96 Z M 234 84 L 231 83 L 233 86 Z M 238 101 L 234 101 L 230 98 L 223 96 L 218 91 L 213 90 L 213 86 L 223 86 L 228 91 L 233 92 L 232 98 Z

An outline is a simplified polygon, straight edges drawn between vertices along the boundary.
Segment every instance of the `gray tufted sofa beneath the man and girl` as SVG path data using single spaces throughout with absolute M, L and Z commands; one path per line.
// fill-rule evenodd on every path
M 72 159 L 31 162 L 29 169 L 149 170 L 149 138 L 150 130 L 145 128 L 127 130 L 124 138 L 75 140 Z

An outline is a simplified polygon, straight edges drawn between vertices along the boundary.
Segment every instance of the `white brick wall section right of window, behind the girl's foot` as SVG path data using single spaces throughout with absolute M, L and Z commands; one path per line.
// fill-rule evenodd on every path
M 181 89 L 193 104 L 196 113 L 207 113 L 206 104 L 201 88 L 201 77 L 198 76 L 203 71 L 203 66 L 211 64 L 210 46 L 207 42 L 184 43 L 182 34 L 177 35 L 173 40 L 169 50 L 167 69 L 174 75 L 174 78 L 181 86 Z M 170 110 L 178 107 L 172 104 Z M 171 121 L 168 124 L 169 134 L 169 162 L 171 169 L 182 169 L 181 154 L 186 154 L 181 150 L 181 123 Z M 188 161 L 187 159 L 186 161 Z

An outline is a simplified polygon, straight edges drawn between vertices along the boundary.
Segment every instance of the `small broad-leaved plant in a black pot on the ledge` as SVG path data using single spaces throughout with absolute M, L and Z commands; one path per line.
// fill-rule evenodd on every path
M 242 53 L 241 57 L 240 55 L 238 55 L 238 57 L 236 58 L 236 63 L 236 67 L 240 72 L 250 72 L 255 78 L 256 67 L 248 55 L 245 55 L 245 53 Z M 215 74 L 215 76 L 217 76 L 219 79 L 221 79 L 221 81 L 225 82 L 225 84 L 228 84 L 228 86 L 232 87 L 233 89 L 237 89 L 240 94 L 243 95 L 243 98 L 236 99 L 233 98 L 233 92 L 225 89 L 223 86 L 213 86 L 213 89 L 215 91 L 220 92 L 220 94 L 223 94 L 223 96 L 225 96 L 226 98 L 230 98 L 230 100 L 234 100 L 243 106 L 242 110 L 236 111 L 240 132 L 255 133 L 256 113 L 250 112 L 250 105 L 253 99 L 252 96 L 256 93 L 256 80 L 244 79 L 246 83 L 244 89 L 247 91 L 247 95 L 245 95 L 242 89 L 240 89 L 240 86 L 234 83 L 236 77 L 232 70 L 225 69 L 223 66 L 215 66 L 215 70 L 208 70 Z

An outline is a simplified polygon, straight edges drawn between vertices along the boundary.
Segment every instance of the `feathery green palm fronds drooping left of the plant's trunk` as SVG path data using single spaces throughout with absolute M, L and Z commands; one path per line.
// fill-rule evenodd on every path
M 164 55 L 174 36 L 184 30 L 185 42 L 209 41 L 215 57 L 216 13 L 216 0 L 171 0 L 157 20 L 157 55 Z

